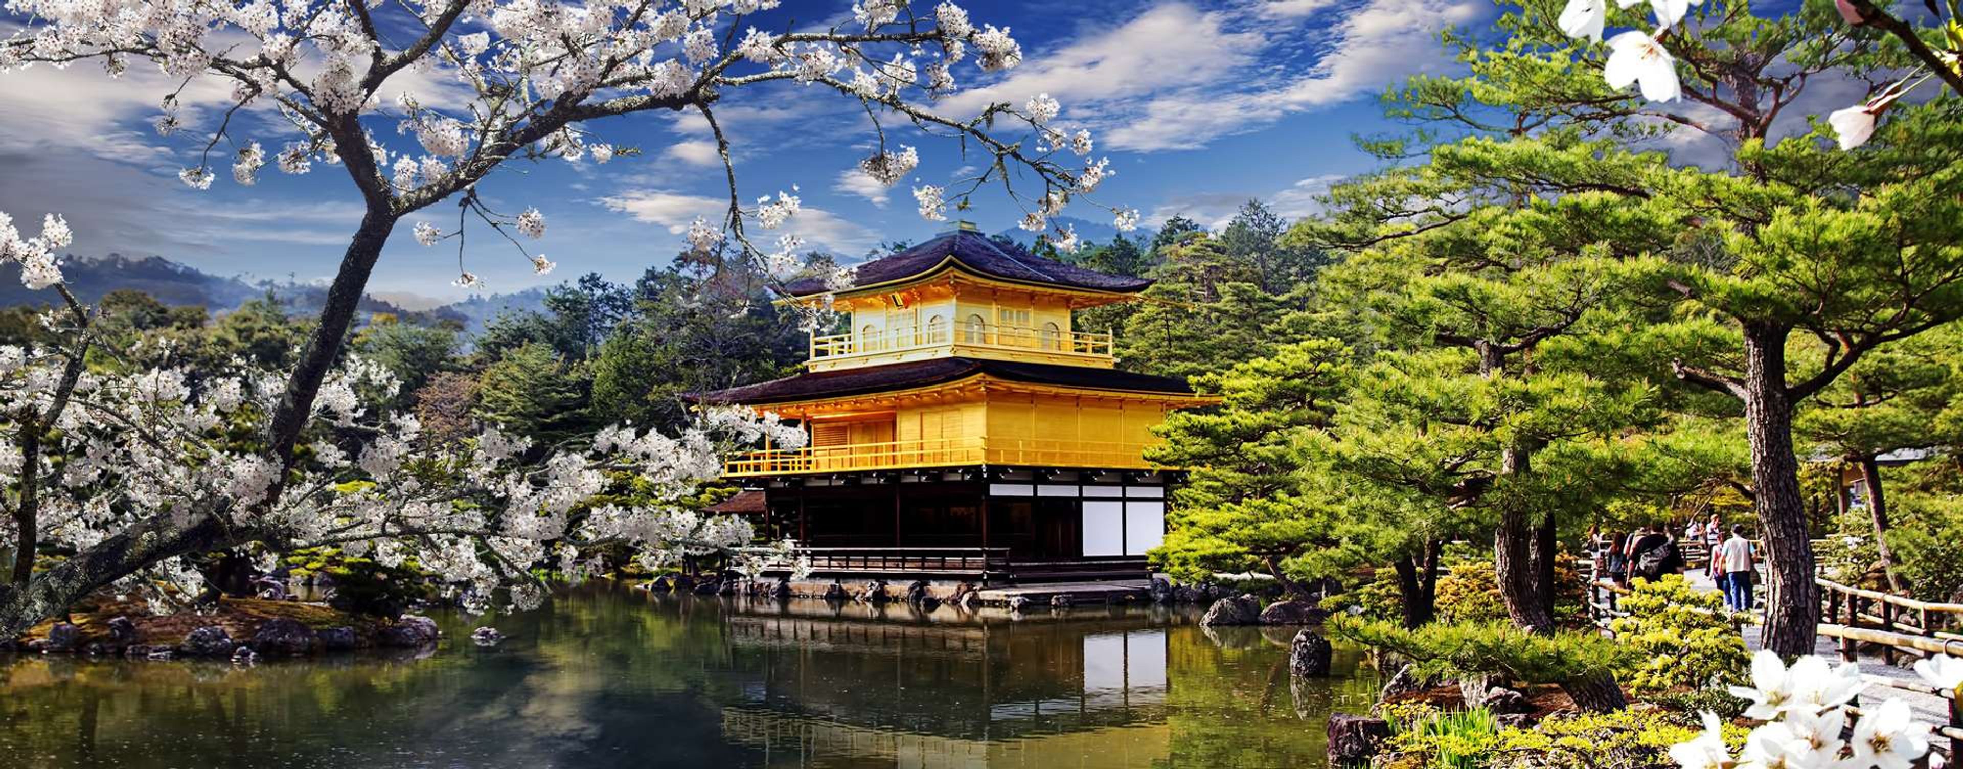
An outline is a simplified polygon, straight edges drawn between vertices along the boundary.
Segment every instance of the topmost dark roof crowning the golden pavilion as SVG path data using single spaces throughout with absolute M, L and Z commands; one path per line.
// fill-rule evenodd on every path
M 1066 288 L 1091 288 L 1131 294 L 1144 290 L 1152 281 L 1123 275 L 1105 275 L 1084 267 L 1042 259 L 1015 243 L 995 243 L 987 235 L 972 230 L 942 233 L 927 243 L 899 251 L 891 257 L 858 265 L 852 286 L 874 286 L 928 275 L 942 261 L 954 257 L 970 271 L 1017 282 L 1038 282 Z M 791 281 L 783 286 L 791 296 L 822 294 L 824 282 L 819 279 Z

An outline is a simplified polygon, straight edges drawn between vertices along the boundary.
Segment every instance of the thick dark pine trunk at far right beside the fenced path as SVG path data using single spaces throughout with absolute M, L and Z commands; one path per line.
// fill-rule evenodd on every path
M 1814 545 L 1800 494 L 1800 461 L 1792 453 L 1792 394 L 1786 390 L 1782 326 L 1745 326 L 1745 437 L 1751 443 L 1753 508 L 1765 539 L 1767 649 L 1780 657 L 1814 653 L 1820 632 L 1820 590 L 1814 585 Z

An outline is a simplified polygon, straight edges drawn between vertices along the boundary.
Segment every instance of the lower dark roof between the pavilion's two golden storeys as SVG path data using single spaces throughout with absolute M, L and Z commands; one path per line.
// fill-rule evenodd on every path
M 697 402 L 773 404 L 807 398 L 832 398 L 915 386 L 956 383 L 974 375 L 989 375 L 1011 383 L 1084 386 L 1095 390 L 1192 394 L 1184 379 L 1152 377 L 1115 369 L 1080 365 L 987 361 L 974 357 L 936 357 L 930 361 L 889 363 L 864 369 L 807 371 L 768 383 L 699 392 Z

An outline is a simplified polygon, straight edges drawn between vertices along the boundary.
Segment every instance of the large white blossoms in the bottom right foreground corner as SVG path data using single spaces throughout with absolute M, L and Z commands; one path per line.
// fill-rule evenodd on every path
M 1936 689 L 1963 685 L 1963 659 L 1937 655 L 1916 663 L 1916 673 Z M 1916 722 L 1908 704 L 1890 698 L 1863 706 L 1865 689 L 1855 663 L 1833 667 L 1822 657 L 1800 657 L 1786 667 L 1773 651 L 1751 659 L 1751 687 L 1731 687 L 1749 700 L 1745 718 L 1761 720 L 1739 755 L 1724 740 L 1724 724 L 1704 714 L 1704 732 L 1671 747 L 1682 769 L 1910 769 L 1930 751 L 1930 726 Z M 1853 728 L 1849 732 L 1849 722 Z

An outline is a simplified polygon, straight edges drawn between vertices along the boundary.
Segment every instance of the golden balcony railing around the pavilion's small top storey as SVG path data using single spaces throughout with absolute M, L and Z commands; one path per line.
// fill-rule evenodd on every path
M 858 363 L 897 363 L 928 357 L 1009 357 L 1042 363 L 1111 367 L 1111 333 L 1003 324 L 899 326 L 813 335 L 815 371 Z

